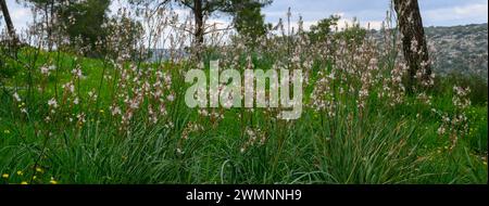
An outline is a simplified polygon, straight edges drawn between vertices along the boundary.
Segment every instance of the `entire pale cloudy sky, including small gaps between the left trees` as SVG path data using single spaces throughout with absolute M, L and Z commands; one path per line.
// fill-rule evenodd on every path
M 454 26 L 479 24 L 488 22 L 488 0 L 418 0 L 423 23 L 425 26 Z M 17 29 L 25 28 L 32 21 L 30 9 L 7 0 L 11 16 Z M 288 8 L 291 8 L 292 22 L 301 15 L 305 29 L 317 21 L 337 14 L 342 17 L 340 27 L 351 23 L 356 17 L 361 25 L 377 29 L 386 18 L 390 0 L 274 0 L 263 9 L 265 21 L 276 24 L 286 18 Z M 115 11 L 117 5 L 112 5 Z M 215 16 L 215 22 L 223 24 L 230 20 Z M 3 21 L 3 20 L 2 20 Z M 4 25 L 3 22 L 1 25 Z

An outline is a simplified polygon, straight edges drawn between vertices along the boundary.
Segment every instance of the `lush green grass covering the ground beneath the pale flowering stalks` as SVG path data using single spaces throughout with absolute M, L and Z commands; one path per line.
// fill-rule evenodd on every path
M 29 52 L 35 51 L 24 51 L 20 62 L 32 62 Z M 450 150 L 449 138 L 437 134 L 440 117 L 414 96 L 390 107 L 372 95 L 363 115 L 354 102 L 344 103 L 335 117 L 304 108 L 294 121 L 271 118 L 275 112 L 233 108 L 215 123 L 197 115 L 180 98 L 186 85 L 177 74 L 186 66 L 164 64 L 174 75 L 177 96 L 166 105 L 168 115 L 159 124 L 150 124 L 148 111 L 141 110 L 121 131 L 118 119 L 109 114 L 112 96 L 121 91 L 114 91 L 113 79 L 101 81 L 103 75 L 114 76 L 114 67 L 100 60 L 76 61 L 87 77 L 76 87 L 83 103 L 61 106 L 50 124 L 43 121 L 49 113 L 47 102 L 55 91 L 61 102 L 61 85 L 71 79 L 75 57 L 40 53 L 32 68 L 46 62 L 58 65 L 55 75 L 47 80 L 39 69 L 30 70 L 16 62 L 7 64 L 4 70 L 14 72 L 2 79 L 0 94 L 0 173 L 9 178 L 0 183 L 49 183 L 51 178 L 59 183 L 114 184 L 487 183 L 487 98 L 468 108 L 471 131 Z M 151 66 L 159 65 L 141 65 L 141 69 Z M 29 95 L 29 78 L 36 85 L 46 81 L 45 93 L 33 88 Z M 430 91 L 432 105 L 453 112 L 455 82 L 449 78 L 438 81 Z M 15 88 L 29 115 L 20 113 L 12 98 Z M 98 101 L 89 101 L 87 92 L 91 90 L 99 94 Z M 84 125 L 66 121 L 78 112 L 86 114 Z M 174 127 L 166 127 L 167 123 Z M 183 140 L 188 123 L 199 123 L 203 129 Z M 259 128 L 266 142 L 241 152 L 248 141 L 247 127 Z

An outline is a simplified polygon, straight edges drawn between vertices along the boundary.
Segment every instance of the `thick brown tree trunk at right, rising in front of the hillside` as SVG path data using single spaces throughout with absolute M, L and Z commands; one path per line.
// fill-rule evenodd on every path
M 402 35 L 404 59 L 410 67 L 411 88 L 419 69 L 424 69 L 424 73 L 418 80 L 427 80 L 431 75 L 423 21 L 417 0 L 393 0 L 393 4 Z

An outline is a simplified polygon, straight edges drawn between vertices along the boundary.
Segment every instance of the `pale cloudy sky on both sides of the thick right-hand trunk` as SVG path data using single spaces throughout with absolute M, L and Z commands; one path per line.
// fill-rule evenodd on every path
M 487 23 L 487 0 L 418 0 L 423 22 L 426 26 L 452 26 Z M 362 23 L 380 25 L 389 10 L 389 0 L 275 0 L 264 10 L 268 22 L 284 16 L 287 8 L 300 13 L 304 22 L 340 14 L 347 20 L 356 16 Z

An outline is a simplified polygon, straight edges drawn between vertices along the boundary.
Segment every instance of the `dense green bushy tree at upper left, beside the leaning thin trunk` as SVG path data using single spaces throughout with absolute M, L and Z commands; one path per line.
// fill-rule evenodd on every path
M 37 24 L 48 25 L 37 35 L 46 36 L 48 48 L 79 51 L 84 55 L 100 56 L 105 53 L 102 42 L 109 33 L 102 25 L 108 22 L 106 13 L 111 0 L 18 0 L 40 14 Z M 70 42 L 66 42 L 68 39 Z

